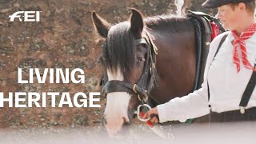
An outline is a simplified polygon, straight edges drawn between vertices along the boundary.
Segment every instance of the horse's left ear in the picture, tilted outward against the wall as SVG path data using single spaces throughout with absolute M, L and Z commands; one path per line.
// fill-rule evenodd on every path
M 103 38 L 106 38 L 111 27 L 110 23 L 98 16 L 95 11 L 92 12 L 91 18 L 94 22 L 95 30 L 97 30 L 98 34 L 100 34 Z

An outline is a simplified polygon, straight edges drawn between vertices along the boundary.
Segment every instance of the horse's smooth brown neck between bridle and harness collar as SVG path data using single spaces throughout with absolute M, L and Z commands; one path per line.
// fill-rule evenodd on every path
M 156 66 L 159 87 L 153 91 L 159 98 L 158 102 L 168 102 L 171 98 L 188 94 L 194 86 L 195 75 L 193 24 L 162 25 L 148 31 L 158 47 Z

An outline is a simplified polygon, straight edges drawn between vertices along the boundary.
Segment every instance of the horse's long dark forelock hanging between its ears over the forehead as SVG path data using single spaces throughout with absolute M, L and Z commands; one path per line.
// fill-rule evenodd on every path
M 134 67 L 134 35 L 130 31 L 130 22 L 121 22 L 110 28 L 107 42 L 106 66 L 113 73 L 120 67 L 121 73 L 129 76 Z

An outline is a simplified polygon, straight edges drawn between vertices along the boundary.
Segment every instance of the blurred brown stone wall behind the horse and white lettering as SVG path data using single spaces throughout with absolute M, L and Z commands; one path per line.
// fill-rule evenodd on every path
M 206 10 L 204 0 L 185 0 L 183 11 Z M 0 0 L 0 91 L 8 92 L 77 92 L 101 91 L 102 76 L 98 58 L 102 41 L 94 32 L 90 12 L 95 10 L 112 24 L 126 21 L 130 7 L 145 17 L 176 14 L 174 0 Z M 40 22 L 10 22 L 16 11 L 42 11 Z M 18 84 L 17 70 L 28 78 L 29 68 L 81 68 L 86 73 L 85 84 Z M 101 98 L 101 97 L 99 97 Z M 57 100 L 58 102 L 58 100 Z M 99 126 L 101 108 L 0 108 L 0 129 Z

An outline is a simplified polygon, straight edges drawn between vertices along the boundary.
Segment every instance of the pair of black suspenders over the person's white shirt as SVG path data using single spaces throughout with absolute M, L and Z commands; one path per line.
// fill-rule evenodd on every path
M 218 50 L 221 48 L 222 43 L 225 41 L 226 37 L 228 34 L 225 34 L 222 37 L 221 42 L 219 42 L 218 48 L 216 50 L 216 53 L 214 54 L 214 58 L 215 56 L 218 54 Z M 254 69 L 256 69 L 256 60 L 254 63 Z M 249 100 L 250 100 L 250 96 L 253 94 L 254 92 L 254 88 L 256 86 L 256 72 L 253 71 L 253 74 L 250 77 L 250 81 L 248 82 L 247 86 L 246 86 L 246 90 L 244 91 L 244 93 L 242 94 L 242 99 L 241 102 L 239 104 L 239 106 L 241 107 L 240 112 L 241 114 L 245 113 L 245 109 L 244 107 L 247 106 Z M 210 100 L 210 88 L 209 88 L 209 83 L 208 83 L 208 79 L 207 79 L 207 89 L 208 89 L 208 101 Z

